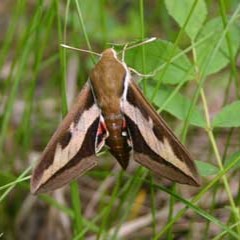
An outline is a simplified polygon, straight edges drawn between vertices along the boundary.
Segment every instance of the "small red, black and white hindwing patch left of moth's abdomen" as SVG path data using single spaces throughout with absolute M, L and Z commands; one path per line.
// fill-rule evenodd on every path
M 106 123 L 104 121 L 103 116 L 100 116 L 100 121 L 98 124 L 98 130 L 95 141 L 95 151 L 99 152 L 105 144 L 106 138 L 109 136 Z

